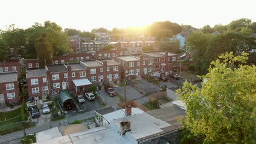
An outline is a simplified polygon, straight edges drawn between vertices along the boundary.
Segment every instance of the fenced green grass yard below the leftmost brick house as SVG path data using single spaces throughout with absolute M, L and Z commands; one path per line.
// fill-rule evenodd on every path
M 4 118 L 6 118 L 7 120 L 10 119 L 9 121 L 0 122 L 0 126 L 23 121 L 21 116 L 19 116 L 20 113 L 21 113 L 21 107 L 13 111 L 0 112 L 0 121 L 5 121 Z M 16 117 L 16 116 L 19 116 L 19 117 Z M 14 119 L 11 119 L 11 118 L 14 118 Z

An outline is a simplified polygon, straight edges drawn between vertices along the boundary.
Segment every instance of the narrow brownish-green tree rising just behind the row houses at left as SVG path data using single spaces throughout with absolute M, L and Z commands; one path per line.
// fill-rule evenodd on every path
M 44 67 L 46 64 L 51 64 L 53 59 L 53 46 L 49 43 L 49 38 L 46 33 L 43 33 L 40 36 L 36 48 L 40 67 Z

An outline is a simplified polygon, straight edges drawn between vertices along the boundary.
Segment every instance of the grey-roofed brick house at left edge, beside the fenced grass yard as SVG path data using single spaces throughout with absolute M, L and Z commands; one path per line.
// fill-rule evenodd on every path
M 0 107 L 19 104 L 19 100 L 18 73 L 0 73 Z

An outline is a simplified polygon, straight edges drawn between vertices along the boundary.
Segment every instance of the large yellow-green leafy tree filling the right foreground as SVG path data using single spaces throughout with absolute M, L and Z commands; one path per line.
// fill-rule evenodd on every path
M 255 143 L 256 67 L 242 65 L 247 53 L 221 55 L 202 88 L 184 82 L 179 99 L 187 105 L 184 143 Z

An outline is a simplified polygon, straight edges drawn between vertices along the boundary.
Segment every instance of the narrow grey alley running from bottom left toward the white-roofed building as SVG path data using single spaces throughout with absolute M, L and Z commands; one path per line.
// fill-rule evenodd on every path
M 85 113 L 80 113 L 80 114 L 72 116 L 72 117 L 67 117 L 66 119 L 68 120 L 69 123 L 72 123 L 76 119 L 83 120 L 83 119 L 94 117 L 94 116 L 95 116 L 94 111 L 89 111 L 89 112 L 85 112 Z M 65 120 L 65 119 L 61 119 L 60 121 L 63 121 L 63 120 Z M 27 135 L 28 134 L 36 134 L 40 131 L 58 127 L 58 126 L 60 126 L 60 121 L 50 122 L 48 124 L 40 125 L 38 127 L 28 128 L 28 129 L 26 129 L 26 134 Z M 10 133 L 7 135 L 2 135 L 2 136 L 0 136 L 0 143 L 4 143 L 4 142 L 16 140 L 16 139 L 21 139 L 21 137 L 23 137 L 23 136 L 24 136 L 23 130 L 16 131 L 14 133 Z

